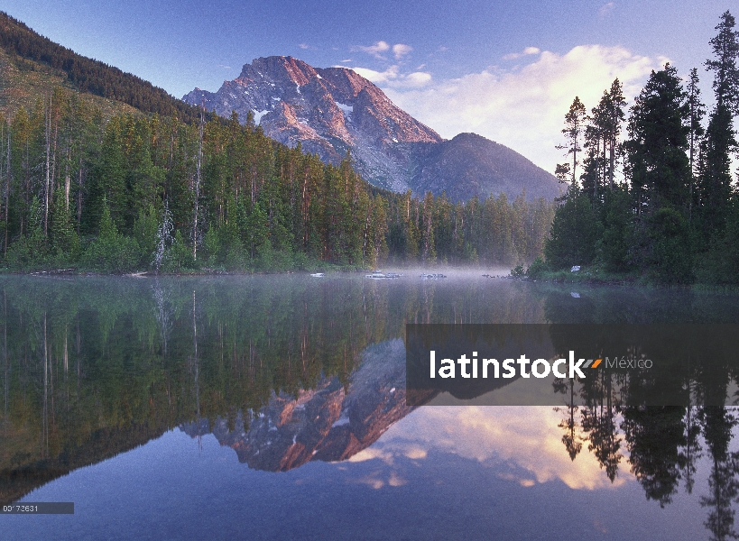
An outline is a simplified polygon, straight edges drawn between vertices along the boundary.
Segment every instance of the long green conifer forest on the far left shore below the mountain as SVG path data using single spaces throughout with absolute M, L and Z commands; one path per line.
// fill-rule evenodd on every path
M 384 261 L 532 261 L 553 205 L 452 203 L 370 186 L 351 156 L 201 114 L 115 115 L 58 87 L 0 118 L 0 247 L 13 270 L 272 271 Z

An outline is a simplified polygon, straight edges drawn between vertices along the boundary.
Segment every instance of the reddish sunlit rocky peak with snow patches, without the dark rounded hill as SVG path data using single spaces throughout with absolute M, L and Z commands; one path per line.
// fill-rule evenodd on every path
M 443 141 L 351 69 L 316 69 L 291 57 L 256 59 L 217 93 L 196 88 L 182 99 L 221 116 L 236 111 L 243 122 L 253 111 L 266 135 L 291 147 L 300 142 L 328 163 L 351 148 L 365 179 L 394 191 L 410 180 L 397 144 Z

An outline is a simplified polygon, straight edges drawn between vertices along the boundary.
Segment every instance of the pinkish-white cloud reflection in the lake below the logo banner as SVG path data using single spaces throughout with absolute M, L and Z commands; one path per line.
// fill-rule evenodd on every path
M 379 459 L 392 467 L 394 456 L 422 460 L 437 452 L 529 472 L 525 476 L 522 472 L 499 475 L 522 486 L 559 480 L 570 489 L 593 491 L 633 481 L 633 474 L 622 468 L 611 483 L 590 453 L 570 461 L 561 442 L 560 420 L 560 414 L 548 407 L 422 407 L 349 460 Z

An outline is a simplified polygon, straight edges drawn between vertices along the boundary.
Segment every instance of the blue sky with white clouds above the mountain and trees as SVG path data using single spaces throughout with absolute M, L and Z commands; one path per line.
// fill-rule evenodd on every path
M 704 68 L 727 0 L 0 0 L 69 49 L 181 97 L 216 91 L 245 63 L 292 56 L 345 66 L 442 137 L 473 132 L 545 170 L 575 96 L 597 105 L 614 78 L 630 105 L 666 61 Z M 735 5 L 734 5 L 735 6 Z M 734 8 L 739 16 L 739 8 Z

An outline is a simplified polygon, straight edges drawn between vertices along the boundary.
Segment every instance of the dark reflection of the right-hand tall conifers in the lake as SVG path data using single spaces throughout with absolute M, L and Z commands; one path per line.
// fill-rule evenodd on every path
M 624 296 L 608 297 L 604 291 L 596 290 L 582 306 L 556 290 L 542 297 L 550 323 L 739 321 L 730 296 L 690 291 L 675 294 L 670 290 L 624 293 Z M 651 302 L 642 302 L 642 295 L 650 297 Z M 680 346 L 675 347 L 679 350 Z M 677 357 L 679 351 L 672 354 Z M 587 442 L 588 450 L 613 482 L 624 457 L 623 438 L 630 471 L 642 485 L 647 499 L 656 500 L 660 507 L 670 504 L 679 491 L 680 481 L 684 490 L 692 493 L 696 463 L 705 447 L 712 467 L 709 493 L 700 497 L 701 506 L 709 509 L 704 524 L 712 539 L 735 538 L 733 503 L 739 496 L 739 453 L 730 451 L 730 444 L 739 418 L 735 407 L 716 402 L 734 399 L 729 395 L 729 386 L 736 381 L 737 368 L 736 362 L 698 361 L 689 366 L 689 371 L 678 375 L 658 373 L 630 379 L 623 374 L 599 371 L 596 379 L 560 381 L 555 390 L 566 403 L 557 408 L 564 414 L 559 424 L 564 431 L 562 443 L 575 460 L 581 445 Z M 666 389 L 673 397 L 677 393 L 684 405 L 650 404 L 651 397 Z M 585 405 L 577 406 L 578 399 Z

